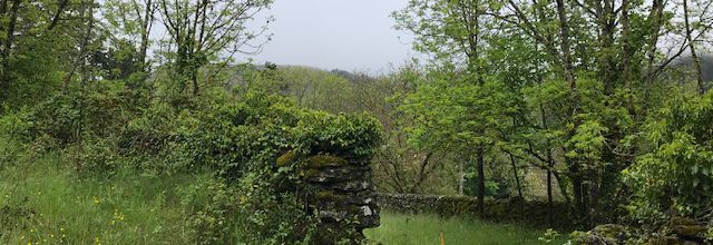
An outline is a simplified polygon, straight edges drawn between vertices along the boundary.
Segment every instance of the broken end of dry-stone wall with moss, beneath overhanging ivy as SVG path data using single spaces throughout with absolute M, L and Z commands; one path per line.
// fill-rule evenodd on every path
M 368 158 L 321 153 L 297 164 L 307 208 L 319 214 L 318 244 L 358 243 L 362 231 L 380 225 Z M 287 153 L 279 164 L 295 158 Z

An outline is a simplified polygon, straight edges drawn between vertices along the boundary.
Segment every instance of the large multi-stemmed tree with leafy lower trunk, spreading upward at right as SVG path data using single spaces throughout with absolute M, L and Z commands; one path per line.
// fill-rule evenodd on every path
M 661 56 L 661 37 L 673 35 L 664 28 L 673 19 L 665 13 L 670 4 L 657 0 L 511 0 L 507 8 L 492 9 L 495 16 L 543 47 L 553 68 L 568 84 L 563 148 L 577 214 L 585 225 L 600 219 L 605 210 L 600 208 L 617 203 L 612 200 L 621 187 L 616 173 L 629 166 L 635 155 L 626 137 L 637 130 L 642 115 L 647 114 L 652 84 L 687 46 L 680 39 L 667 47 L 673 52 Z M 548 18 L 551 16 L 556 21 Z M 706 28 L 700 27 L 699 31 Z M 642 69 L 636 63 L 647 66 Z M 594 72 L 588 72 L 592 67 Z

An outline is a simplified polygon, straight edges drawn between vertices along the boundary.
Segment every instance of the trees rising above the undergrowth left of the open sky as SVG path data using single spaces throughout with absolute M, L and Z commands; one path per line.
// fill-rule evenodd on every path
M 236 53 L 260 51 L 272 19 L 254 16 L 271 3 L 1 1 L 1 101 L 19 107 L 57 91 L 117 81 L 133 91 L 160 90 L 179 102 L 217 82 Z M 257 28 L 247 28 L 251 21 Z

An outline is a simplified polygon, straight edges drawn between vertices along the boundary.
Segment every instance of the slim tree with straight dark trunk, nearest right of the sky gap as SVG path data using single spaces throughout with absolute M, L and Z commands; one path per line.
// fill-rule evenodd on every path
M 463 91 L 475 92 L 480 88 L 488 87 L 484 74 L 482 57 L 487 42 L 485 40 L 490 35 L 487 30 L 491 26 L 486 26 L 486 23 L 495 24 L 494 21 L 487 21 L 489 17 L 484 14 L 488 3 L 484 0 L 414 0 L 410 1 L 403 10 L 393 13 L 398 29 L 408 30 L 416 35 L 414 49 L 432 55 L 433 63 L 446 70 L 442 75 L 437 76 L 433 86 L 423 86 L 423 89 L 414 94 L 414 98 L 407 101 L 407 104 L 409 101 L 414 104 L 406 106 L 407 110 L 411 110 L 414 115 L 436 116 L 420 117 L 421 121 L 418 122 L 422 128 L 418 130 L 416 137 L 449 146 L 456 144 L 460 146 L 459 149 L 465 150 L 463 153 L 472 154 L 472 159 L 468 160 L 476 161 L 477 166 L 480 215 L 485 215 L 485 155 L 489 150 L 488 144 L 490 141 L 486 130 L 491 129 L 488 126 L 495 126 L 497 122 L 473 116 L 495 117 L 490 114 L 488 114 L 497 107 L 488 107 L 490 105 L 484 107 L 484 104 L 488 104 L 487 97 L 490 95 L 467 95 Z M 447 96 L 441 97 L 441 92 Z M 455 95 L 448 92 L 455 92 Z M 457 96 L 457 98 L 449 98 L 450 96 Z M 470 96 L 481 97 L 469 100 Z M 453 110 L 453 108 L 443 108 L 442 106 L 466 108 Z M 427 111 L 431 109 L 468 115 L 465 116 L 466 118 L 460 118 L 458 115 Z M 494 114 L 497 114 L 499 110 L 495 111 Z M 459 122 L 462 125 L 453 125 Z M 456 129 L 451 130 L 451 128 Z M 434 133 L 436 135 L 431 136 L 432 139 L 424 137 L 427 131 L 439 129 L 443 131 Z M 442 144 L 430 144 L 430 146 L 437 145 Z

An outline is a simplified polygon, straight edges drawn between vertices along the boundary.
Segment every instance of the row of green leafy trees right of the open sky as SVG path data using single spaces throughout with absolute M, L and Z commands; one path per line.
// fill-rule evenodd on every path
M 709 6 L 410 1 L 397 28 L 432 57 L 399 107 L 410 139 L 475 166 L 481 200 L 487 166 L 527 164 L 547 171 L 549 202 L 559 185 L 583 227 L 707 223 Z M 692 70 L 671 68 L 683 57 Z

